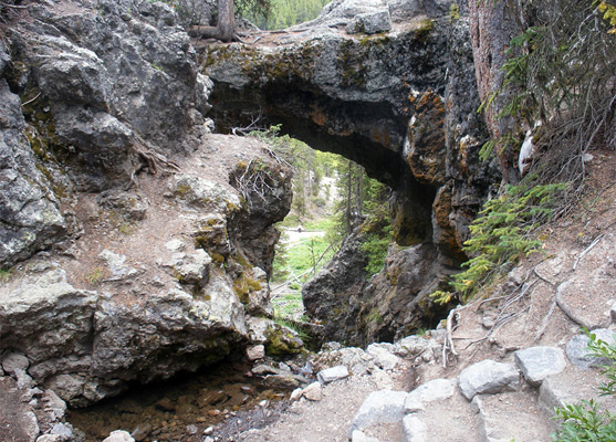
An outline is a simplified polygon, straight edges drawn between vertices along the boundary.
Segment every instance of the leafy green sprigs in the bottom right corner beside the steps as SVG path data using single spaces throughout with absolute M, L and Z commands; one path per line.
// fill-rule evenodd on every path
M 606 358 L 609 364 L 602 366 L 602 375 L 607 378 L 599 391 L 603 394 L 615 396 L 616 390 L 616 346 L 597 339 L 596 335 L 585 333 L 589 337 L 589 356 Z M 556 442 L 613 442 L 616 441 L 616 415 L 603 409 L 594 400 L 582 400 L 576 404 L 556 408 L 557 418 L 563 422 L 552 435 Z

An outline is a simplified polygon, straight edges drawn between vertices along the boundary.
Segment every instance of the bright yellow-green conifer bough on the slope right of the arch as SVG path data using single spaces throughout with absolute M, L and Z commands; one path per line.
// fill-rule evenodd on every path
M 451 283 L 460 301 L 472 298 L 505 264 L 541 250 L 542 243 L 533 232 L 551 218 L 555 194 L 566 185 L 533 186 L 534 178 L 508 186 L 500 198 L 487 201 L 469 227 L 471 239 L 464 243 L 463 251 L 473 257 L 462 264 L 466 270 L 455 275 Z M 450 301 L 448 292 L 435 297 Z

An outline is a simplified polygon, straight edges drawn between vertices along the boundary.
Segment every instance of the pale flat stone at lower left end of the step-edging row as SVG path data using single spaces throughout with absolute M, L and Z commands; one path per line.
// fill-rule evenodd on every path
M 406 397 L 405 391 L 379 390 L 369 393 L 353 418 L 349 436 L 355 430 L 364 430 L 378 423 L 400 422 Z

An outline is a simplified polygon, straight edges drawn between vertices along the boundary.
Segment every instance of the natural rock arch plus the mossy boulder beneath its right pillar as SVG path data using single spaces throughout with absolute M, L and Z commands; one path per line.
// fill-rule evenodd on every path
M 205 49 L 220 129 L 248 125 L 257 115 L 265 125 L 282 123 L 283 130 L 361 164 L 394 190 L 395 240 L 414 252 L 391 250 L 388 260 L 404 269 L 413 262 L 422 277 L 391 282 L 385 269 L 367 284 L 363 269 L 347 265 L 349 248 L 353 265 L 363 266 L 353 236 L 304 288 L 309 314 L 325 323 L 326 339 L 391 339 L 438 319 L 425 296 L 466 260 L 468 225 L 500 181 L 495 162 L 479 159 L 489 136 L 477 114 L 467 7 L 460 4 L 459 15 L 450 6 L 336 1 L 282 35 Z

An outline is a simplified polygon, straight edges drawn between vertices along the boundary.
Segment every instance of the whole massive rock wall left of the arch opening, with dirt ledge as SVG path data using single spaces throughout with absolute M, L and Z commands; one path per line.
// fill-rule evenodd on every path
M 208 133 L 174 9 L 20 13 L 0 39 L 0 375 L 85 406 L 249 345 L 300 351 L 268 285 L 291 171 Z

